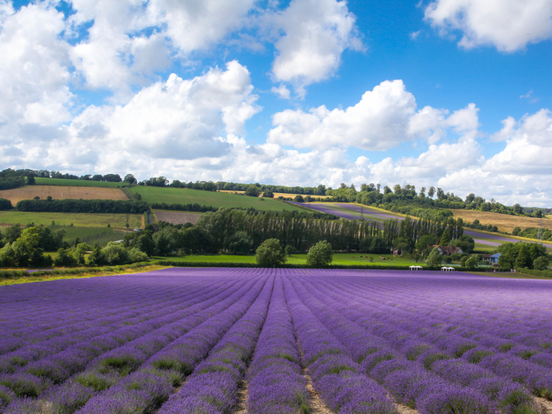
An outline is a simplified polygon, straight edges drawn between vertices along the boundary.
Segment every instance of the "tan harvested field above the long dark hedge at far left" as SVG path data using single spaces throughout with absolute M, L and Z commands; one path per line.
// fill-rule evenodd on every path
M 76 186 L 24 186 L 12 190 L 0 191 L 0 198 L 12 201 L 15 206 L 17 201 L 32 200 L 39 196 L 46 199 L 51 195 L 53 199 L 107 199 L 107 200 L 128 200 L 120 188 L 106 187 L 76 187 Z

